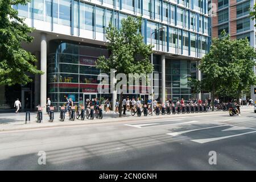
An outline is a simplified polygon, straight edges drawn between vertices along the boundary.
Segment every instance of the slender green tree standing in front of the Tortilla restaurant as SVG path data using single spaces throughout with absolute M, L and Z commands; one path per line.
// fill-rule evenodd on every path
M 154 69 L 149 57 L 152 53 L 152 46 L 143 41 L 141 35 L 142 18 L 128 16 L 122 19 L 122 27 L 118 30 L 111 23 L 106 28 L 106 39 L 110 56 L 98 57 L 96 67 L 104 73 L 110 73 L 110 69 L 115 69 L 115 74 L 124 73 L 151 73 Z M 122 99 L 122 93 L 121 93 Z M 121 106 L 121 100 L 119 102 Z M 119 107 L 119 115 L 121 109 Z

